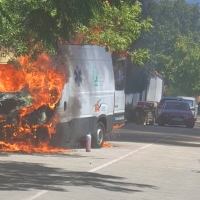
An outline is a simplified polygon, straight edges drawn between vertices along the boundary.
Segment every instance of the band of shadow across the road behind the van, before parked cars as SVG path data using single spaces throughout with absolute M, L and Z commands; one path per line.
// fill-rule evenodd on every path
M 200 147 L 200 127 L 190 129 L 180 126 L 126 124 L 115 130 L 109 141 Z

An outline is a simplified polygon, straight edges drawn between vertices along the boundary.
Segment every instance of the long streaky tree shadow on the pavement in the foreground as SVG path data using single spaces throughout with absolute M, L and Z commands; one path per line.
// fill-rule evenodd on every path
M 155 186 L 128 183 L 118 176 L 98 173 L 72 172 L 41 164 L 0 162 L 0 190 L 26 191 L 29 189 L 68 191 L 69 186 L 84 186 L 115 192 L 142 192 Z

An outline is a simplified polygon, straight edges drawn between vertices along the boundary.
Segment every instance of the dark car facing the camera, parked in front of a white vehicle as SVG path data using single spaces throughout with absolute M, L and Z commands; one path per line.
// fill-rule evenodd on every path
M 195 125 L 194 115 L 185 101 L 165 101 L 161 113 L 158 116 L 158 125 L 185 125 L 193 128 Z

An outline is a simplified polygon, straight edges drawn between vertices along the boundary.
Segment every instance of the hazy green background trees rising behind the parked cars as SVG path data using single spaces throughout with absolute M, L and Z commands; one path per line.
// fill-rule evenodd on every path
M 198 95 L 200 8 L 185 0 L 161 0 L 151 3 L 146 15 L 154 27 L 143 41 L 151 51 L 148 65 L 163 75 L 168 95 Z

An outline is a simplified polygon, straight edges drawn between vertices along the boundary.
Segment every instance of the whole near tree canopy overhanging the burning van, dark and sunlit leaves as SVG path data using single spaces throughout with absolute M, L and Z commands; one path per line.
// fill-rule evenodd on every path
M 92 42 L 91 30 L 98 26 L 99 45 L 127 51 L 141 31 L 151 27 L 150 19 L 141 20 L 137 0 L 1 0 L 0 11 L 0 43 L 16 55 L 56 53 L 58 43 L 70 43 L 78 34 L 87 34 L 87 42 Z M 144 50 L 132 55 L 140 64 L 148 57 Z

